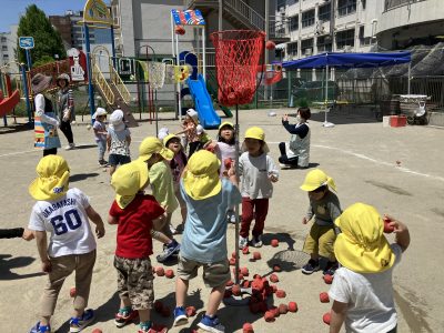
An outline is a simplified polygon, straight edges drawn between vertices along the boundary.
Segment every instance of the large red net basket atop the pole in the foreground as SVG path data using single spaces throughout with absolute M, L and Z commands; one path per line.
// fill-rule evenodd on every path
M 251 103 L 256 90 L 256 68 L 265 33 L 256 30 L 225 30 L 211 34 L 215 48 L 218 99 L 223 105 Z

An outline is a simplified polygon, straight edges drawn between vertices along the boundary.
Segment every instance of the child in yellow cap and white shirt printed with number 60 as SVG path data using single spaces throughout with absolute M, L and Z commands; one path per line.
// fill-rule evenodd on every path
M 70 332 L 80 332 L 92 322 L 94 313 L 85 310 L 90 294 L 92 269 L 95 262 L 95 240 L 89 220 L 95 224 L 95 234 L 104 235 L 102 219 L 79 189 L 69 189 L 70 171 L 59 155 L 47 155 L 37 165 L 38 178 L 29 186 L 37 200 L 29 219 L 48 282 L 42 294 L 40 321 L 31 333 L 51 332 L 50 319 L 64 280 L 75 272 L 73 316 Z M 47 241 L 47 232 L 51 238 Z

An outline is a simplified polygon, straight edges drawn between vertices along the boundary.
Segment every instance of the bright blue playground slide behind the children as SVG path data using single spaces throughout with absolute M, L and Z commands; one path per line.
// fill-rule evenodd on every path
M 205 80 L 198 74 L 198 80 L 189 78 L 186 84 L 194 100 L 195 111 L 199 113 L 199 121 L 204 129 L 216 129 L 221 124 L 221 118 L 215 113 L 213 101 L 206 90 Z

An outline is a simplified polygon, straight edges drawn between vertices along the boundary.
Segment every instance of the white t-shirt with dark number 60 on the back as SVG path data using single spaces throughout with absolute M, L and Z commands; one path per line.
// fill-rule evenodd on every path
M 70 189 L 58 200 L 38 201 L 28 228 L 51 233 L 48 254 L 52 258 L 89 253 L 97 246 L 85 211 L 89 206 L 82 191 Z

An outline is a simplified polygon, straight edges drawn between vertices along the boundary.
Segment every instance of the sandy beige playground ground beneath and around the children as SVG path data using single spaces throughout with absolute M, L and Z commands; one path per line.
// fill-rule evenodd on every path
M 284 112 L 273 110 L 278 117 L 268 117 L 270 110 L 250 110 L 240 113 L 241 132 L 250 125 L 265 130 L 271 155 L 278 161 L 278 143 L 289 139 L 281 125 Z M 164 115 L 162 114 L 162 118 Z M 397 307 L 398 332 L 442 332 L 444 269 L 444 155 L 442 154 L 444 131 L 430 127 L 383 128 L 382 123 L 361 117 L 332 115 L 334 128 L 323 128 L 323 114 L 314 114 L 312 129 L 311 167 L 319 167 L 336 182 L 342 208 L 361 201 L 373 204 L 381 213 L 390 213 L 405 222 L 411 231 L 412 243 L 395 269 L 393 276 L 394 296 Z M 21 120 L 24 121 L 24 120 Z M 87 119 L 85 119 L 87 121 Z M 178 121 L 161 120 L 160 127 L 171 131 L 179 129 Z M 107 218 L 113 199 L 109 175 L 97 163 L 97 147 L 93 134 L 85 124 L 73 127 L 79 149 L 60 151 L 71 168 L 71 186 L 78 186 L 91 198 L 91 204 Z M 154 124 L 140 123 L 132 131 L 132 154 L 147 135 L 153 135 Z M 209 131 L 215 137 L 215 131 Z M 33 201 L 28 185 L 34 179 L 34 168 L 41 152 L 32 149 L 33 131 L 12 131 L 0 128 L 1 170 L 1 228 L 24 226 Z M 64 138 L 63 138 L 64 139 Z M 62 141 L 62 144 L 65 141 Z M 268 275 L 274 263 L 283 271 L 278 273 L 279 289 L 286 292 L 285 299 L 270 300 L 274 304 L 295 301 L 297 313 L 287 313 L 266 323 L 262 316 L 253 315 L 245 307 L 221 306 L 219 316 L 226 332 L 242 332 L 242 324 L 251 322 L 258 332 L 327 332 L 322 315 L 330 311 L 319 294 L 329 290 L 322 274 L 303 275 L 300 266 L 307 256 L 301 252 L 309 228 L 301 220 L 307 206 L 306 193 L 299 189 L 306 171 L 282 170 L 275 184 L 270 213 L 265 222 L 265 246 L 259 251 L 262 260 L 250 262 L 241 254 L 241 266 L 251 274 Z M 178 223 L 179 213 L 173 216 Z M 270 246 L 271 239 L 279 239 L 279 248 Z M 392 236 L 390 236 L 392 239 Z M 234 250 L 233 226 L 228 231 L 229 255 Z M 98 241 L 98 260 L 94 268 L 90 306 L 95 309 L 97 319 L 84 332 L 100 327 L 103 332 L 137 332 L 135 325 L 117 329 L 113 313 L 119 306 L 115 294 L 117 279 L 112 265 L 115 246 L 115 226 L 107 225 L 107 235 Z M 155 243 L 155 252 L 160 251 Z M 441 253 L 441 254 L 440 254 Z M 159 264 L 152 260 L 154 266 Z M 175 271 L 175 266 L 172 269 Z M 33 241 L 0 241 L 0 322 L 3 332 L 28 332 L 37 321 L 40 295 L 46 278 L 40 273 L 37 248 Z M 71 315 L 72 300 L 69 289 L 70 276 L 60 293 L 52 326 L 56 332 L 68 332 L 67 320 Z M 174 306 L 174 280 L 155 278 L 155 299 L 171 310 Z M 208 290 L 201 279 L 190 283 L 189 305 L 198 309 L 198 316 L 185 327 L 196 327 L 208 299 Z M 153 312 L 154 322 L 172 326 L 173 317 L 161 317 Z M 170 332 L 189 332 L 172 327 Z

